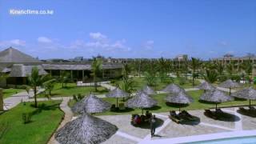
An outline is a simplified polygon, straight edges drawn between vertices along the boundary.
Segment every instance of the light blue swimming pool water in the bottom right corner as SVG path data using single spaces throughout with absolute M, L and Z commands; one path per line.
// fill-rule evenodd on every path
M 201 142 L 190 142 L 192 144 L 255 144 L 256 136 L 250 137 L 238 137 L 238 138 L 223 138 L 210 141 L 201 141 Z

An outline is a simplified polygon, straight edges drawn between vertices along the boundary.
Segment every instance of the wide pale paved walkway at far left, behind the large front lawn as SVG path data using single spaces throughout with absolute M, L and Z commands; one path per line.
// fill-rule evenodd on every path
M 38 94 L 44 91 L 44 89 L 39 89 Z M 11 108 L 17 106 L 20 102 L 27 101 L 29 98 L 34 97 L 34 92 L 33 90 L 30 90 L 30 93 L 27 94 L 26 91 L 20 92 L 18 94 L 14 94 L 10 96 L 9 98 L 5 98 L 3 100 L 4 110 L 10 110 Z

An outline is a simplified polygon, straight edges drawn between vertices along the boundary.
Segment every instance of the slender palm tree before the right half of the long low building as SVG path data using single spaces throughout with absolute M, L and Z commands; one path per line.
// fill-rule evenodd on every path
M 93 71 L 93 75 L 94 75 L 94 88 L 95 88 L 95 91 L 98 91 L 97 82 L 98 82 L 98 76 L 102 71 L 102 60 L 99 58 L 93 58 L 93 62 L 91 63 L 91 70 Z

